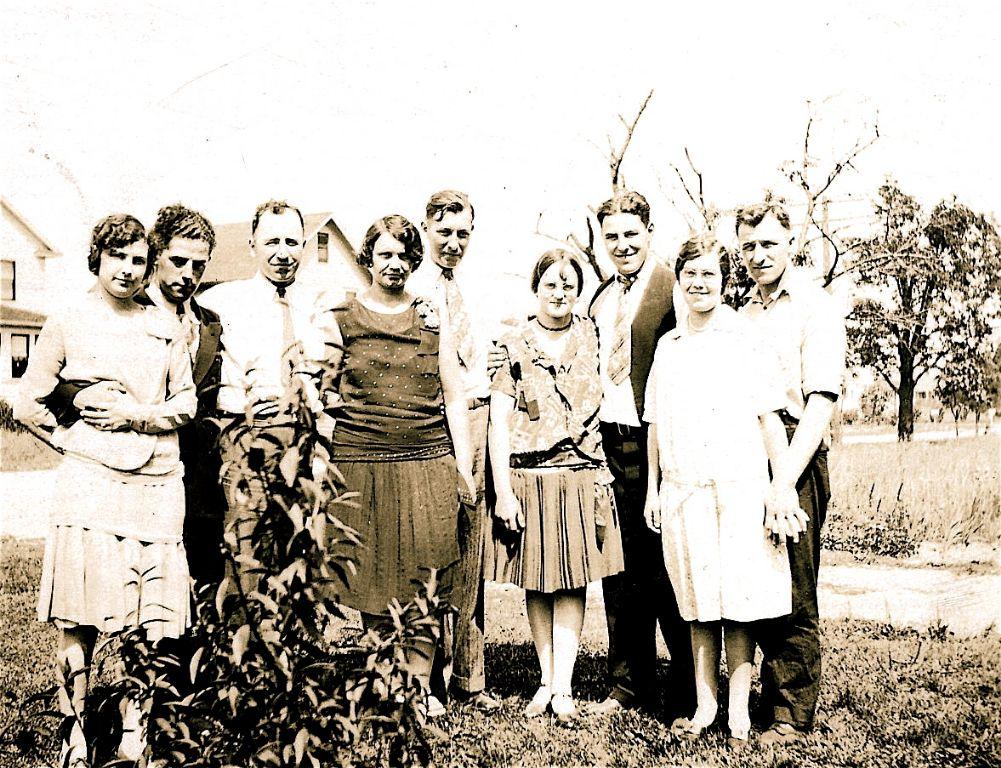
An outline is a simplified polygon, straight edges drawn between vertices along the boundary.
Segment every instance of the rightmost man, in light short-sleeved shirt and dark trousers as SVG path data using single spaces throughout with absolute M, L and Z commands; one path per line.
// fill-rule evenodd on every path
M 762 744 L 800 739 L 813 727 L 820 692 L 821 646 L 817 607 L 821 528 L 831 496 L 828 431 L 845 374 L 845 319 L 834 297 L 790 264 L 793 233 L 785 207 L 766 200 L 737 211 L 737 239 L 755 281 L 742 313 L 776 354 L 786 393 L 782 413 L 790 438 L 773 492 L 784 506 L 806 513 L 806 530 L 787 540 L 793 611 L 759 622 L 761 710 L 768 730 Z

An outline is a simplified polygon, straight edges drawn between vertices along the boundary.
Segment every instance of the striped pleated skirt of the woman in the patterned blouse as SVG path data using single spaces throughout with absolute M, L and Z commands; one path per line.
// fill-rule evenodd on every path
M 512 470 L 512 490 L 525 513 L 525 529 L 516 534 L 496 524 L 491 527 L 483 578 L 558 592 L 620 573 L 624 564 L 619 516 L 612 495 L 596 491 L 597 480 L 593 469 Z

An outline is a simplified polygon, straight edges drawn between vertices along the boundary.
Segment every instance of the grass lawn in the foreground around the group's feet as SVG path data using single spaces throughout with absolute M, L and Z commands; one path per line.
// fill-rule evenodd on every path
M 34 621 L 41 545 L 0 540 L 0 729 L 13 702 L 50 684 L 55 633 Z M 860 622 L 828 622 L 820 724 L 802 744 L 765 752 L 726 747 L 717 731 L 697 744 L 673 741 L 656 716 L 585 718 L 574 728 L 522 716 L 537 666 L 521 593 L 491 590 L 486 676 L 504 708 L 485 716 L 453 708 L 438 721 L 438 766 L 996 766 L 1001 765 L 1001 643 L 957 640 Z M 604 620 L 592 605 L 575 681 L 580 699 L 604 696 Z M 666 672 L 665 660 L 662 675 Z M 721 717 L 725 722 L 725 716 Z M 0 748 L 0 765 L 33 766 Z

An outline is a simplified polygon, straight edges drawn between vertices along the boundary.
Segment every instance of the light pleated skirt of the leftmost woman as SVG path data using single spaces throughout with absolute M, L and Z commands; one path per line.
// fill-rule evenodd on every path
M 180 637 L 191 623 L 182 479 L 118 475 L 69 457 L 60 465 L 38 619 L 107 633 L 143 627 L 152 641 Z M 148 536 L 116 530 L 128 511 Z

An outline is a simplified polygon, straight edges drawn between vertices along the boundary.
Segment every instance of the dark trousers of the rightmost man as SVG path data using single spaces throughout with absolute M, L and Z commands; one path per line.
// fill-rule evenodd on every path
M 792 432 L 795 428 L 790 428 Z M 796 486 L 800 506 L 810 517 L 798 543 L 787 542 L 793 583 L 793 612 L 755 622 L 754 639 L 761 647 L 761 712 L 772 723 L 789 723 L 802 730 L 813 727 L 820 693 L 820 617 L 817 577 L 820 538 L 831 482 L 827 449 L 810 461 Z

